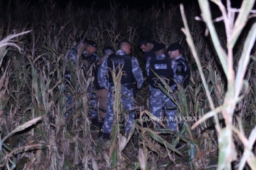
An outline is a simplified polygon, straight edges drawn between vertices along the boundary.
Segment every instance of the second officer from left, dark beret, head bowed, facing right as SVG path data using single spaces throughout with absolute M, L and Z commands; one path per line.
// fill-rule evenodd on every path
M 83 62 L 83 71 L 85 73 L 85 78 L 92 76 L 92 64 L 99 60 L 100 58 L 95 54 L 97 45 L 92 40 L 87 40 L 87 45 L 85 52 L 82 55 L 82 62 Z M 92 126 L 99 128 L 98 125 L 98 110 L 97 110 L 97 97 L 95 93 L 94 84 L 90 83 L 88 86 L 88 95 L 91 99 L 91 106 L 89 110 L 89 114 L 92 121 Z

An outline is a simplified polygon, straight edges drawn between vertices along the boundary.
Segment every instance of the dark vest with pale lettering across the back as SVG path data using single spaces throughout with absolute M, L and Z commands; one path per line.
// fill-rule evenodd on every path
M 161 77 L 165 77 L 169 80 L 169 86 L 172 86 L 175 84 L 174 82 L 174 74 L 173 74 L 173 68 L 171 67 L 171 58 L 165 57 L 164 60 L 156 60 L 156 58 L 150 58 L 150 70 L 149 70 L 149 84 L 153 88 L 158 88 L 157 86 L 162 84 L 162 82 L 154 75 L 156 73 L 157 75 Z M 154 73 L 153 73 L 154 71 Z

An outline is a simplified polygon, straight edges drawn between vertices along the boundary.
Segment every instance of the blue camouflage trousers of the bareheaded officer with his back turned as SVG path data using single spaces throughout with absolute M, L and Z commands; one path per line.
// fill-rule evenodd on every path
M 115 101 L 115 99 L 113 99 L 113 91 L 114 87 L 111 86 L 111 88 L 109 89 L 108 95 L 107 95 L 107 112 L 106 112 L 106 118 L 104 121 L 104 125 L 102 126 L 102 132 L 110 134 L 112 126 L 113 126 L 113 121 L 114 121 L 114 110 L 113 110 L 113 103 Z M 131 90 L 128 90 L 125 86 L 121 87 L 121 93 L 122 93 L 122 97 L 121 97 L 121 101 L 122 101 L 122 106 L 124 108 L 124 110 L 132 110 L 134 108 L 134 101 L 132 101 L 132 99 L 134 99 L 134 93 Z M 128 98 L 128 97 L 130 98 Z M 133 112 L 129 112 L 128 114 L 128 119 L 125 119 L 125 130 L 126 133 L 130 133 L 130 130 L 132 128 L 132 125 L 134 125 L 134 114 L 135 111 Z M 126 117 L 126 116 L 124 116 Z

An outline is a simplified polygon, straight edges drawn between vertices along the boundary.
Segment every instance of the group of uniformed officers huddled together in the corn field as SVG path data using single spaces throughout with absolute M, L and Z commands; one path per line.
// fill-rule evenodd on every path
M 167 117 L 167 128 L 177 130 L 177 122 L 169 119 L 177 116 L 175 104 L 165 93 L 160 90 L 160 86 L 164 86 L 158 78 L 162 77 L 166 84 L 169 85 L 174 92 L 177 90 L 177 84 L 186 88 L 190 82 L 190 66 L 186 59 L 180 54 L 180 44 L 171 43 L 167 49 L 163 43 L 156 43 L 147 38 L 140 38 L 137 47 L 144 53 L 146 62 L 147 80 L 150 90 L 150 113 L 155 117 L 162 116 L 162 108 L 165 108 Z M 132 44 L 127 40 L 119 42 L 118 50 L 107 46 L 102 49 L 103 56 L 98 57 L 96 52 L 97 45 L 92 40 L 84 37 L 78 38 L 76 45 L 72 48 L 66 57 L 67 67 L 65 73 L 66 82 L 70 82 L 70 64 L 73 66 L 78 63 L 85 73 L 92 73 L 94 81 L 89 84 L 88 95 L 91 98 L 91 107 L 89 114 L 92 126 L 100 129 L 99 138 L 108 140 L 110 138 L 111 129 L 114 121 L 114 80 L 113 71 L 119 73 L 118 68 L 122 68 L 121 77 L 121 101 L 124 110 L 128 112 L 128 119 L 125 120 L 124 126 L 126 133 L 129 134 L 134 124 L 135 104 L 134 90 L 141 89 L 144 78 L 137 58 L 130 55 Z M 80 62 L 79 62 L 80 61 Z M 158 75 L 158 76 L 157 76 Z M 134 86 L 135 85 L 135 86 Z M 67 83 L 66 86 L 70 86 Z M 74 112 L 71 106 L 73 96 L 66 88 L 66 123 L 70 119 L 70 112 Z M 173 98 L 173 95 L 171 95 Z

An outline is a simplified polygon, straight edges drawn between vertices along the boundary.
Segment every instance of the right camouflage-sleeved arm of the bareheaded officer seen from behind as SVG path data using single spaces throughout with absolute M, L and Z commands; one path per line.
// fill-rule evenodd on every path
M 134 73 L 134 78 L 137 81 L 137 87 L 141 88 L 144 82 L 143 74 L 141 71 L 141 67 L 139 67 L 139 62 L 134 56 L 132 57 L 132 73 Z

